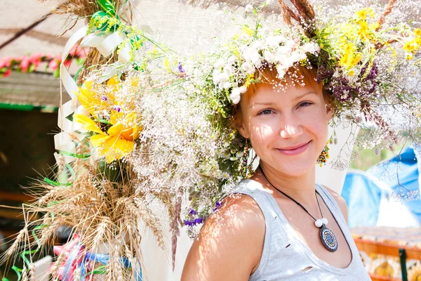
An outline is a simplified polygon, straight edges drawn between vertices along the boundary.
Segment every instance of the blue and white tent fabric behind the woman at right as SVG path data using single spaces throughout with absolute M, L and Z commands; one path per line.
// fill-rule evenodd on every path
M 417 158 L 412 148 L 368 172 L 348 171 L 341 195 L 348 205 L 349 227 L 420 226 L 421 200 L 398 202 L 394 197 L 402 190 L 420 190 L 418 178 Z

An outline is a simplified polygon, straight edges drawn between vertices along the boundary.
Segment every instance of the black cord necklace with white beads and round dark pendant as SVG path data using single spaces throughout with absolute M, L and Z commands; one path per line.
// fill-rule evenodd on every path
M 333 234 L 332 230 L 330 230 L 329 228 L 326 228 L 326 225 L 328 224 L 328 219 L 323 217 L 323 214 L 321 213 L 321 208 L 320 208 L 320 204 L 319 204 L 319 199 L 317 198 L 317 191 L 314 193 L 314 195 L 316 196 L 316 200 L 317 200 L 317 205 L 319 206 L 319 210 L 320 210 L 320 214 L 321 214 L 321 218 L 316 219 L 314 218 L 314 216 L 312 216 L 312 214 L 309 213 L 309 211 L 307 211 L 307 209 L 305 209 L 304 206 L 302 206 L 302 204 L 300 204 L 300 202 L 297 202 L 295 199 L 293 199 L 293 197 L 290 197 L 288 194 L 286 194 L 285 192 L 279 190 L 278 188 L 275 187 L 275 185 L 273 185 L 269 179 L 267 178 L 267 176 L 265 175 L 265 173 L 263 172 L 262 167 L 259 167 L 260 171 L 262 171 L 262 175 L 266 178 L 266 181 L 269 183 L 269 185 L 272 185 L 272 187 L 276 190 L 278 190 L 279 192 L 281 192 L 283 195 L 285 195 L 286 197 L 288 197 L 290 200 L 293 200 L 293 202 L 295 202 L 295 204 L 298 204 L 298 206 L 300 206 L 307 214 L 309 214 L 309 216 L 311 216 L 314 219 L 314 225 L 317 228 L 320 228 L 320 240 L 321 243 L 323 244 L 323 246 L 328 249 L 329 251 L 336 251 L 338 249 L 338 240 L 336 240 L 335 235 Z

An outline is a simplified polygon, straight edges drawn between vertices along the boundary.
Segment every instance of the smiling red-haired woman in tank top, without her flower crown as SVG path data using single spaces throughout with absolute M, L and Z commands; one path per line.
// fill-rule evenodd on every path
M 206 221 L 182 280 L 369 280 L 344 200 L 315 183 L 332 118 L 315 76 L 299 65 L 284 79 L 274 68 L 256 71 L 259 82 L 243 93 L 233 124 L 259 169 Z

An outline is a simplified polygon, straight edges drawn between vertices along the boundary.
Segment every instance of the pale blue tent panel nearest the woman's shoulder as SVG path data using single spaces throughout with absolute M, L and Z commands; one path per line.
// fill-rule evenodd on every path
M 348 205 L 350 228 L 376 225 L 382 189 L 375 179 L 358 171 L 349 171 L 341 195 Z

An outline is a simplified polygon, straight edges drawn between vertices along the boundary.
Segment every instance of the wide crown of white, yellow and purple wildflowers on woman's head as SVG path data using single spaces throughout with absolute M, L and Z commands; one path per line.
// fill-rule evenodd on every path
M 257 8 L 248 5 L 246 12 L 253 11 L 255 27 L 243 25 L 241 34 L 213 53 L 213 71 L 205 78 L 212 85 L 207 85 L 206 91 L 215 94 L 220 100 L 218 111 L 228 116 L 248 86 L 261 81 L 254 75 L 262 67 L 276 69 L 277 78 L 283 80 L 290 67 L 305 65 L 315 69 L 316 80 L 332 97 L 335 117 L 345 112 L 352 121 L 361 123 L 362 114 L 396 141 L 379 105 L 416 102 L 401 81 L 420 71 L 416 56 L 421 30 L 401 22 L 382 30 L 393 2 L 378 20 L 371 8 L 363 8 L 351 17 L 323 22 L 315 18 L 307 1 L 293 1 L 298 13 L 280 1 L 286 24 L 265 22 L 260 13 L 266 4 Z

